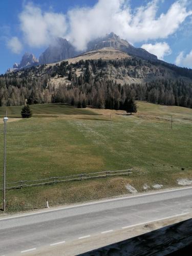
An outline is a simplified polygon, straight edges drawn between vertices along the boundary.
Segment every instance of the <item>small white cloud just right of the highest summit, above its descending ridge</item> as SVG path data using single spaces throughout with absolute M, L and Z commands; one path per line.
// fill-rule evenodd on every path
M 166 42 L 157 42 L 154 45 L 144 44 L 141 48 L 145 49 L 147 52 L 155 54 L 158 59 L 163 59 L 164 56 L 172 53 L 172 50 Z

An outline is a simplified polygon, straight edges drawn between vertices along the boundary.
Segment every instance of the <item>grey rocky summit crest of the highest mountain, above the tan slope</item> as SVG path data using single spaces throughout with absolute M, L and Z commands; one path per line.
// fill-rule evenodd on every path
M 98 50 L 104 47 L 115 48 L 117 50 L 126 52 L 131 55 L 136 55 L 138 57 L 144 59 L 157 59 L 157 56 L 147 52 L 142 48 L 135 48 L 129 42 L 124 39 L 121 39 L 118 35 L 114 34 L 113 32 L 105 37 L 101 37 L 90 41 L 88 44 L 88 51 L 91 50 Z

